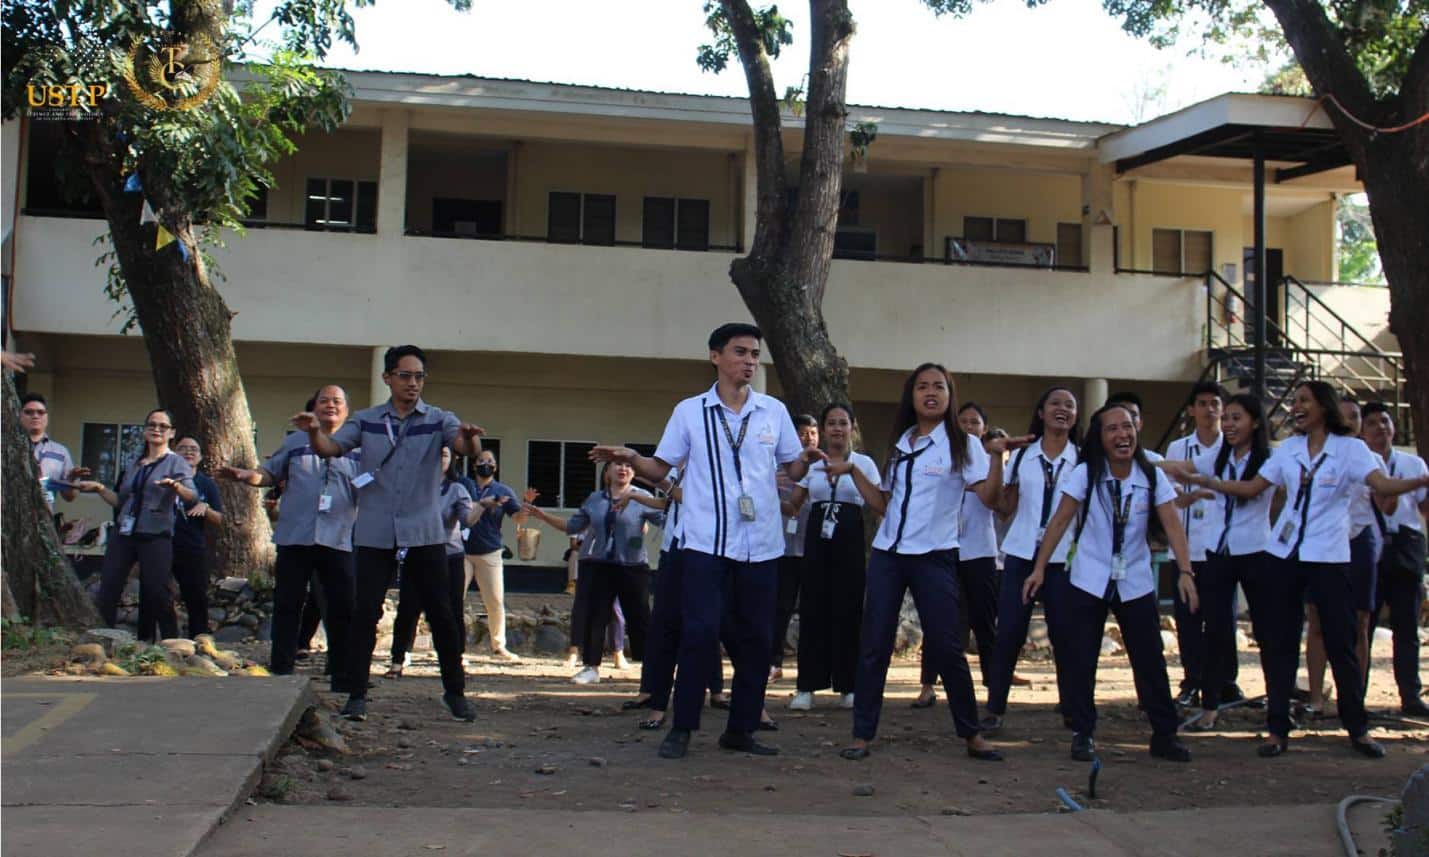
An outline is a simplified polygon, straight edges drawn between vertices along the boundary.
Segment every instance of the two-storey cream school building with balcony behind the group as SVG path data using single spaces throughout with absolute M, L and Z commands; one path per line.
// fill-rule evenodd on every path
M 322 384 L 356 407 L 384 397 L 382 351 L 412 341 L 427 400 L 487 428 L 503 481 L 579 506 L 586 450 L 653 444 L 712 383 L 710 329 L 749 319 L 727 277 L 755 229 L 746 101 L 347 77 L 350 119 L 300 140 L 217 254 L 260 453 Z M 1360 184 L 1312 100 L 1226 94 L 1136 127 L 850 113 L 879 130 L 846 170 L 825 316 L 876 457 L 925 360 L 1015 431 L 1053 381 L 1087 410 L 1136 390 L 1157 443 L 1187 384 L 1248 380 L 1258 211 L 1272 393 L 1316 376 L 1398 394 L 1388 291 L 1336 281 L 1336 200 Z M 800 120 L 785 119 L 796 184 Z M 104 476 L 137 443 L 149 363 L 104 296 L 103 220 L 56 190 L 56 129 L 3 133 L 7 319 L 39 356 L 27 383 L 53 437 Z M 93 498 L 67 511 L 104 517 Z M 543 563 L 564 548 L 553 536 Z

